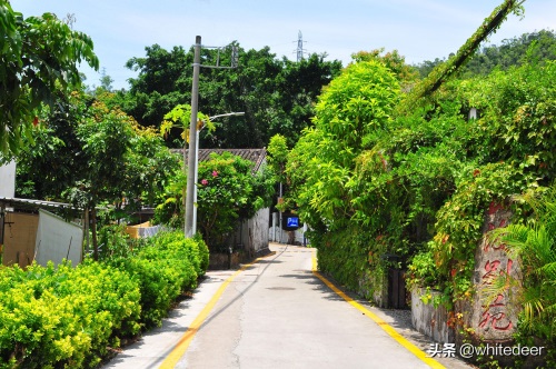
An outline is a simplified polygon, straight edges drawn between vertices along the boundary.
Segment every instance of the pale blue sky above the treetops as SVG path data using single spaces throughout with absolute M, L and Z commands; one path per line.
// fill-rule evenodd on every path
M 360 50 L 397 49 L 409 63 L 445 58 L 478 28 L 503 0 L 11 0 L 24 17 L 53 12 L 76 17 L 73 28 L 89 34 L 101 68 L 113 87 L 128 88 L 137 73 L 125 68 L 155 43 L 188 49 L 197 34 L 202 44 L 237 40 L 245 49 L 270 47 L 295 60 L 298 32 L 307 52 L 326 52 L 347 64 Z M 525 17 L 512 16 L 489 40 L 556 29 L 556 1 L 528 0 Z M 100 73 L 83 68 L 87 84 Z

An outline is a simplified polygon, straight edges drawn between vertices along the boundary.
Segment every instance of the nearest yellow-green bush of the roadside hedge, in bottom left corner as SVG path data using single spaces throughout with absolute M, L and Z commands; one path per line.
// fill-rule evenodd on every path
M 4 367 L 93 367 L 139 331 L 139 288 L 129 276 L 93 262 L 77 268 L 3 268 L 0 357 Z

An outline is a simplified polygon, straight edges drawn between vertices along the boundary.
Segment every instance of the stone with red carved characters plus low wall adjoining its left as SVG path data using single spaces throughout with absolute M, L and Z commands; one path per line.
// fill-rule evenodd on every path
M 515 332 L 518 307 L 513 306 L 509 299 L 510 291 L 493 295 L 488 290 L 493 280 L 499 276 L 509 275 L 519 278 L 519 266 L 513 260 L 504 245 L 489 241 L 489 231 L 508 225 L 512 212 L 499 203 L 490 203 L 485 213 L 483 225 L 483 239 L 477 245 L 475 252 L 475 271 L 473 283 L 476 293 L 466 301 L 458 301 L 455 313 L 461 317 L 460 323 L 470 336 L 461 333 L 463 330 L 454 330 L 448 327 L 448 312 L 443 307 L 435 308 L 420 300 L 425 293 L 423 289 L 411 291 L 411 320 L 414 327 L 441 343 L 456 342 L 458 346 L 464 341 L 471 340 L 475 343 L 504 343 L 510 345 Z M 430 292 L 439 293 L 439 292 Z M 492 296 L 493 295 L 493 296 Z M 492 296 L 489 299 L 487 297 Z

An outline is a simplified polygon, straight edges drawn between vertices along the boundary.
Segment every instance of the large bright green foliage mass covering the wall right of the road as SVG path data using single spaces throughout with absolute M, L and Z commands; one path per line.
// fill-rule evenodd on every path
M 504 203 L 518 222 L 527 207 L 512 196 L 556 179 L 555 73 L 553 61 L 529 62 L 448 81 L 429 104 L 395 116 L 393 74 L 376 63 L 347 68 L 288 157 L 319 268 L 381 303 L 390 267 L 443 291 L 437 302 L 449 310 L 468 299 L 486 211 Z M 553 339 L 538 327 L 520 332 Z

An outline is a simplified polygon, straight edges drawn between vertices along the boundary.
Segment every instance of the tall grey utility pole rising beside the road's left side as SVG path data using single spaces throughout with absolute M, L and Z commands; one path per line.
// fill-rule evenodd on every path
M 195 57 L 193 57 L 193 83 L 191 88 L 191 121 L 189 122 L 189 154 L 187 156 L 183 148 L 183 166 L 187 158 L 187 193 L 183 197 L 183 208 L 186 209 L 186 238 L 193 237 L 193 207 L 192 201 L 195 196 L 195 172 L 197 169 L 197 158 L 193 150 L 197 147 L 197 111 L 199 109 L 199 71 L 201 68 L 201 37 L 195 39 Z

